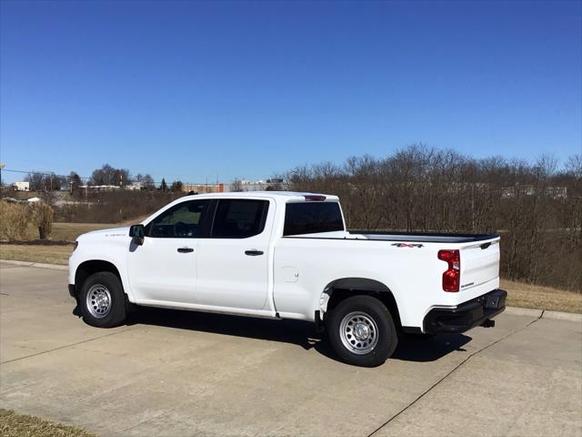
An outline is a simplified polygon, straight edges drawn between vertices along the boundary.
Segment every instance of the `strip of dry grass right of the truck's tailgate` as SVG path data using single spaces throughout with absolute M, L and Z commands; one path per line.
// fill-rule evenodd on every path
M 582 293 L 576 291 L 557 290 L 506 279 L 501 279 L 501 288 L 507 290 L 507 305 L 512 307 L 582 313 Z

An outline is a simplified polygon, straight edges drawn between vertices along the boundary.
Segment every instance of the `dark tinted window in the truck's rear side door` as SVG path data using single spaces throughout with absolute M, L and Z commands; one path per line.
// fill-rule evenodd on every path
M 268 200 L 219 200 L 212 227 L 214 239 L 246 239 L 265 229 Z

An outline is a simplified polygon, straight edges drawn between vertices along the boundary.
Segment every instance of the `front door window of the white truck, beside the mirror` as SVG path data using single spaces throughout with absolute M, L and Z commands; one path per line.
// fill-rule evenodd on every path
M 194 239 L 199 234 L 208 200 L 178 203 L 146 226 L 146 237 L 156 239 Z

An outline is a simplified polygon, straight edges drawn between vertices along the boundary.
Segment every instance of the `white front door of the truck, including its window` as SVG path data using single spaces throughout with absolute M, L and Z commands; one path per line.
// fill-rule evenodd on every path
M 196 249 L 209 200 L 187 200 L 146 225 L 144 244 L 132 243 L 128 277 L 135 300 L 196 303 Z

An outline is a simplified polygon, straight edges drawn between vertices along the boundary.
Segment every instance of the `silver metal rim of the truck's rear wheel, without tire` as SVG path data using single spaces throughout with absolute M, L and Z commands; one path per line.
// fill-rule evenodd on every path
M 376 321 L 365 312 L 350 312 L 339 324 L 339 337 L 348 351 L 365 355 L 373 351 L 378 342 Z

